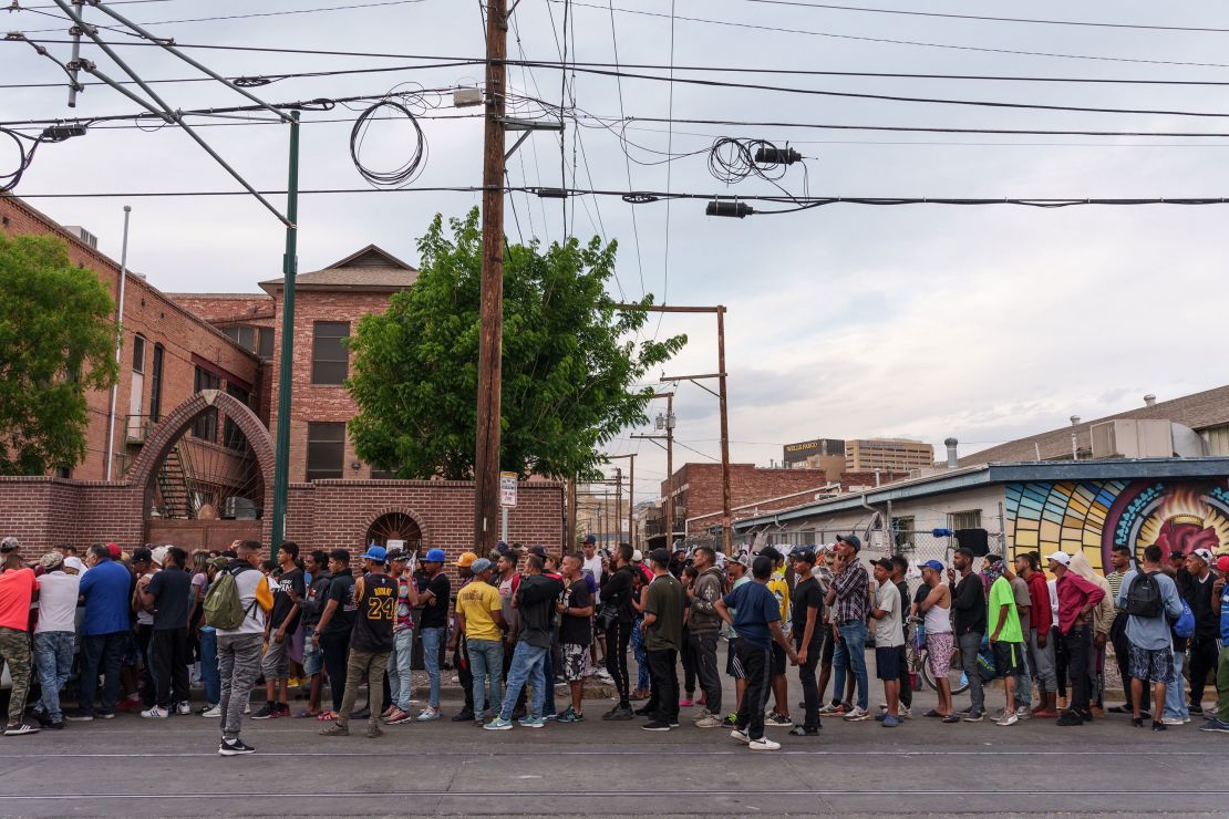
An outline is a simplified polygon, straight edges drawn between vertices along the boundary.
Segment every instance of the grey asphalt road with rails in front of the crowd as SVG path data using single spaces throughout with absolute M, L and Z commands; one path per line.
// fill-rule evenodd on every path
M 878 689 L 873 680 L 873 706 Z M 1153 733 L 1120 716 L 1078 728 L 825 720 L 819 738 L 769 729 L 782 750 L 755 753 L 724 729 L 693 728 L 688 708 L 682 728 L 658 734 L 602 722 L 608 706 L 589 701 L 586 722 L 540 731 L 440 721 L 380 739 L 320 737 L 307 720 L 248 721 L 243 739 L 257 754 L 237 758 L 218 756 L 216 720 L 120 715 L 0 738 L 0 815 L 1224 817 L 1229 805 L 1229 738 L 1197 722 Z M 446 715 L 458 707 L 444 704 Z

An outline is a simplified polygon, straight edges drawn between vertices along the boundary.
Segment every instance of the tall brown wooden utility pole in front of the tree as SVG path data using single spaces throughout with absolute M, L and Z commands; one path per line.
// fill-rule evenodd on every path
M 499 518 L 499 424 L 504 341 L 504 95 L 506 0 L 487 0 L 487 128 L 482 157 L 482 285 L 478 336 L 478 429 L 473 467 L 474 551 L 495 546 Z

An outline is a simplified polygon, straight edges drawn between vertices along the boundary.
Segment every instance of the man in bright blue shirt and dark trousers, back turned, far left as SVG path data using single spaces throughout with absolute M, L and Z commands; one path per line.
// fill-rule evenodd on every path
M 106 674 L 102 707 L 98 717 L 116 716 L 119 696 L 119 658 L 132 623 L 128 615 L 129 588 L 133 580 L 128 569 L 111 559 L 102 544 L 90 546 L 90 570 L 81 576 L 81 598 L 85 619 L 81 623 L 81 695 L 80 707 L 65 715 L 70 722 L 91 722 L 93 695 L 98 689 L 98 667 Z

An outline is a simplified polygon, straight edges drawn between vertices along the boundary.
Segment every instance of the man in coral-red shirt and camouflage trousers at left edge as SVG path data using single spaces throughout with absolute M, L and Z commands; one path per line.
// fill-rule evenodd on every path
M 5 737 L 38 733 L 25 723 L 26 696 L 29 694 L 29 604 L 38 599 L 38 578 L 25 566 L 17 538 L 0 540 L 0 669 L 9 664 L 12 691 L 9 697 L 9 722 Z

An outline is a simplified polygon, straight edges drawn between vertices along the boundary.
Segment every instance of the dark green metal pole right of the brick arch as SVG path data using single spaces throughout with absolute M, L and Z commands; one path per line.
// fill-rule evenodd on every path
M 295 274 L 299 271 L 299 112 L 290 114 L 290 176 L 286 185 L 286 252 L 281 257 L 281 357 L 278 361 L 278 435 L 273 462 L 273 543 L 278 559 L 286 533 L 290 485 L 290 383 L 295 357 Z

